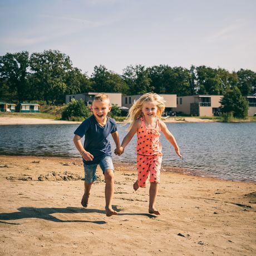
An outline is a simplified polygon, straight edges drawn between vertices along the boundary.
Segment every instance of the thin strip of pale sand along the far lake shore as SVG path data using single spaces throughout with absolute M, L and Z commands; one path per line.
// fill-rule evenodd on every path
M 164 122 L 215 122 L 213 119 L 200 119 L 196 117 L 171 117 Z M 39 119 L 30 117 L 0 117 L 0 125 L 58 125 L 58 124 L 81 124 L 81 122 Z

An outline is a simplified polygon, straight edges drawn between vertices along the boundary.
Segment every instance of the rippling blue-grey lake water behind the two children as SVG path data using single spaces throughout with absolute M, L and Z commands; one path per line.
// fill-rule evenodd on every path
M 183 159 L 164 135 L 163 165 L 179 166 L 231 180 L 256 181 L 256 123 L 179 123 L 166 124 L 179 144 Z M 80 156 L 73 145 L 77 125 L 7 125 L 0 126 L 0 154 L 37 156 Z M 118 125 L 120 140 L 126 127 Z M 112 141 L 112 149 L 115 145 Z M 114 160 L 135 163 L 136 136 L 122 156 Z

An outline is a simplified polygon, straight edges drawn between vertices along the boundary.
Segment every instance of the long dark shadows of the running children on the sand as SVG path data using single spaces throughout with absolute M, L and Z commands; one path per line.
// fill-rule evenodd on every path
M 113 206 L 113 209 L 116 211 L 120 211 L 116 206 Z M 78 208 L 78 207 L 66 207 L 66 208 L 35 208 L 35 207 L 20 207 L 17 209 L 18 211 L 14 213 L 0 213 L 0 220 L 18 220 L 25 218 L 37 218 L 37 219 L 45 219 L 55 222 L 82 222 L 82 223 L 94 223 L 94 224 L 106 224 L 107 222 L 104 220 L 91 221 L 91 220 L 61 220 L 52 216 L 51 214 L 55 213 L 100 213 L 106 214 L 104 210 L 98 209 L 86 209 L 86 208 Z M 140 215 L 147 216 L 148 218 L 156 218 L 156 216 L 152 214 L 144 214 L 144 213 L 119 213 L 118 215 Z M 0 221 L 0 223 L 18 225 L 17 223 L 8 223 L 5 221 Z

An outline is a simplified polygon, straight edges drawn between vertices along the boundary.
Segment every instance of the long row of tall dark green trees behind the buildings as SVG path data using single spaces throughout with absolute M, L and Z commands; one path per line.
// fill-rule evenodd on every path
M 223 95 L 237 87 L 243 96 L 255 95 L 256 73 L 241 68 L 159 65 L 127 66 L 121 75 L 95 66 L 92 75 L 73 67 L 70 57 L 58 50 L 29 55 L 27 51 L 0 56 L 0 100 L 9 102 L 45 101 L 62 104 L 65 95 L 83 92 L 145 92 L 188 95 Z

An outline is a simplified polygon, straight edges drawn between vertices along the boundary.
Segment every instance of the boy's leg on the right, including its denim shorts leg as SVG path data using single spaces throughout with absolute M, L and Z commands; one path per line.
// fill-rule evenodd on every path
M 105 156 L 100 160 L 100 167 L 105 176 L 105 200 L 106 200 L 106 215 L 116 215 L 117 211 L 112 209 L 112 199 L 114 196 L 114 165 L 111 156 Z

